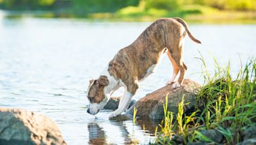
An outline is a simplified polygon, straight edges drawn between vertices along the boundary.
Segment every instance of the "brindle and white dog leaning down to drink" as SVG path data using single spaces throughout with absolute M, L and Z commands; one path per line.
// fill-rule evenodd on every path
M 172 88 L 180 87 L 187 70 L 182 60 L 186 33 L 193 41 L 200 43 L 181 18 L 161 18 L 148 26 L 131 45 L 119 50 L 98 79 L 90 81 L 87 112 L 97 114 L 108 102 L 111 93 L 121 86 L 125 87 L 124 95 L 118 109 L 109 118 L 124 112 L 139 88 L 138 82 L 155 71 L 163 53 L 167 53 L 173 66 L 173 76 L 166 85 L 173 83 L 180 71 L 179 79 L 173 83 Z

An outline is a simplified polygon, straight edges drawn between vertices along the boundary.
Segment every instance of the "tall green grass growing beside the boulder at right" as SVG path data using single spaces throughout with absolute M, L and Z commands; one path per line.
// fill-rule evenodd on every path
M 256 127 L 256 59 L 241 67 L 235 79 L 230 76 L 229 64 L 220 67 L 214 60 L 216 71 L 211 77 L 204 59 L 200 60 L 206 85 L 198 94 L 198 109 L 184 114 L 184 102 L 180 102 L 177 120 L 173 122 L 173 114 L 164 106 L 164 122 L 156 144 L 214 142 L 202 134 L 211 129 L 223 135 L 221 143 L 236 144 L 243 141 L 244 130 Z

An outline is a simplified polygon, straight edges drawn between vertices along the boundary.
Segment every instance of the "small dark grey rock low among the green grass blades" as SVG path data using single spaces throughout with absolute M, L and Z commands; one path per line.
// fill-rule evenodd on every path
M 208 137 L 214 142 L 220 143 L 223 139 L 223 135 L 218 130 L 210 129 L 210 130 L 202 130 L 201 132 L 205 137 Z

